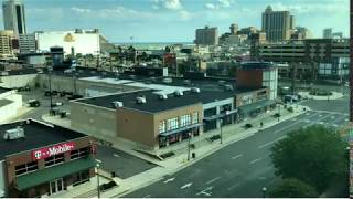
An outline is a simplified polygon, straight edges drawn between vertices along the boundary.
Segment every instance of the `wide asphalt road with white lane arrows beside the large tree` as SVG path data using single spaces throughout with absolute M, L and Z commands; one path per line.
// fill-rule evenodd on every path
M 324 103 L 328 102 L 302 102 L 312 105 L 313 111 L 226 146 L 174 175 L 124 197 L 263 197 L 261 188 L 270 188 L 278 180 L 269 157 L 274 143 L 300 127 L 321 124 L 336 128 L 349 123 L 347 98 L 329 102 L 338 106 Z M 321 111 L 321 107 L 324 109 Z

